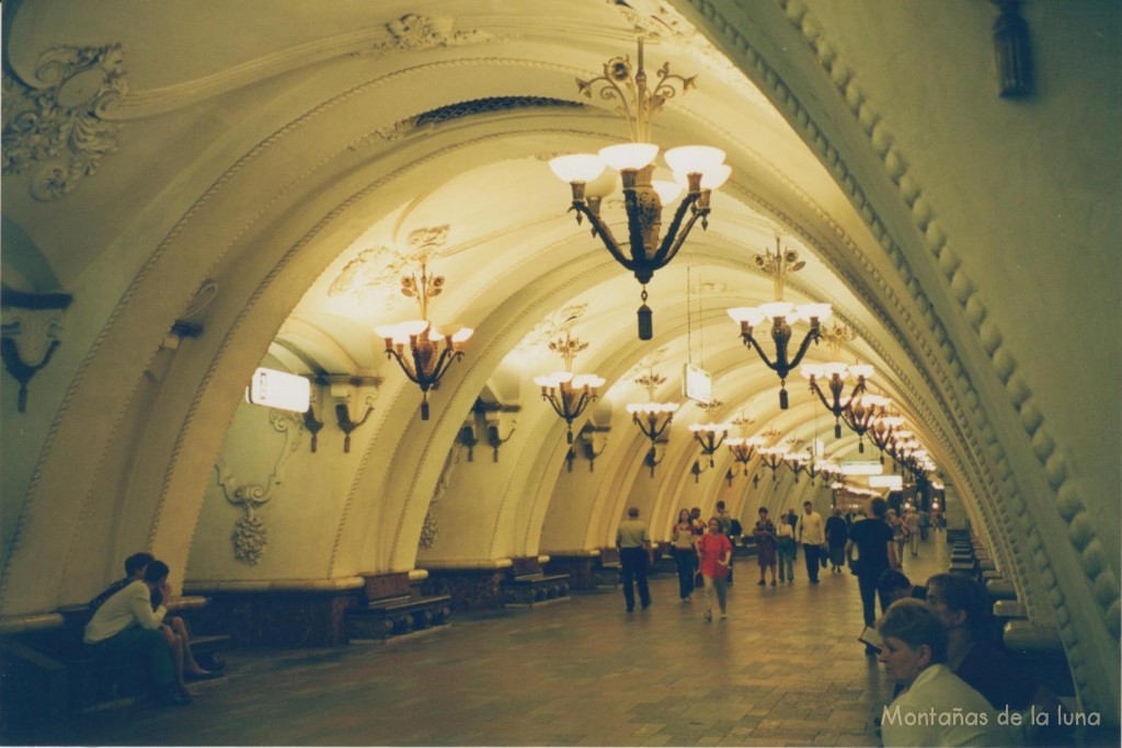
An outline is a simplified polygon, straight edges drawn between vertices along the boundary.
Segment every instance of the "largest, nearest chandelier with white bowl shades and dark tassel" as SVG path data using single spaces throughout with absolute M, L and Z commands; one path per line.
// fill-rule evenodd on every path
M 710 146 L 684 146 L 664 154 L 666 165 L 674 173 L 673 182 L 655 182 L 654 158 L 659 146 L 651 142 L 651 118 L 679 93 L 695 86 L 697 76 L 682 77 L 670 72 L 670 63 L 655 73 L 657 81 L 647 87 L 643 68 L 643 38 L 638 39 L 637 67 L 631 57 L 614 57 L 604 65 L 604 74 L 589 81 L 577 79 L 577 89 L 591 99 L 597 96 L 618 103 L 617 112 L 627 119 L 631 142 L 601 148 L 599 154 L 559 156 L 550 168 L 572 187 L 572 207 L 577 222 L 587 218 L 592 236 L 599 237 L 611 257 L 631 270 L 643 285 L 638 310 L 638 338 L 651 340 L 654 334 L 651 307 L 646 305 L 646 284 L 654 271 L 666 266 L 682 248 L 693 224 L 701 221 L 708 227 L 709 197 L 712 190 L 728 179 L 732 168 L 725 166 L 725 153 Z M 611 229 L 600 218 L 600 198 L 586 196 L 589 182 L 611 167 L 623 181 L 624 207 L 627 212 L 627 244 L 622 246 Z M 665 237 L 662 231 L 662 207 L 678 196 L 680 186 L 686 197 L 679 203 Z

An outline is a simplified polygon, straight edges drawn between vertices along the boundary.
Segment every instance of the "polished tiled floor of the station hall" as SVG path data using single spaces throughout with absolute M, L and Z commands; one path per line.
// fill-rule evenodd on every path
M 946 567 L 944 536 L 905 572 Z M 729 618 L 706 624 L 700 591 L 671 575 L 650 610 L 604 591 L 534 609 L 453 617 L 389 645 L 233 652 L 229 677 L 186 708 L 136 707 L 45 729 L 36 744 L 390 746 L 877 745 L 891 694 L 856 641 L 857 581 L 755 585 L 737 566 Z

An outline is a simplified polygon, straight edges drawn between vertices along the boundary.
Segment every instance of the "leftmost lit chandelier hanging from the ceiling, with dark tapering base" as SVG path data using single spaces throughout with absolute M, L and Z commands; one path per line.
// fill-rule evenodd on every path
M 422 421 L 429 419 L 429 390 L 438 386 L 452 361 L 463 355 L 463 343 L 473 332 L 458 324 L 436 329 L 429 322 L 429 299 L 443 288 L 444 276 L 430 276 L 427 265 L 422 262 L 420 276 L 411 273 L 402 278 L 402 295 L 417 299 L 421 318 L 375 327 L 386 341 L 386 358 L 395 359 L 405 376 L 421 387 Z

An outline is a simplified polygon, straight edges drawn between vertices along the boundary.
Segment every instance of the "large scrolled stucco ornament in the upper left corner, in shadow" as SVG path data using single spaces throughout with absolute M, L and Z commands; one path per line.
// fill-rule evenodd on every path
M 57 200 L 96 173 L 117 149 L 120 126 L 107 121 L 128 93 L 121 46 L 55 47 L 36 80 L 3 75 L 3 174 L 31 174 L 36 200 Z

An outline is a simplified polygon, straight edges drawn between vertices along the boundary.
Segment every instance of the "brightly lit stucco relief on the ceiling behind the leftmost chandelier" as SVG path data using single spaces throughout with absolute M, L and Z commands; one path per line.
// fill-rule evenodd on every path
M 448 241 L 451 227 L 416 229 L 406 241 L 408 252 L 388 247 L 364 249 L 358 257 L 343 266 L 328 288 L 328 296 L 364 296 L 384 294 L 386 306 L 397 303 L 397 290 L 403 275 L 419 270 L 441 256 L 440 248 Z

